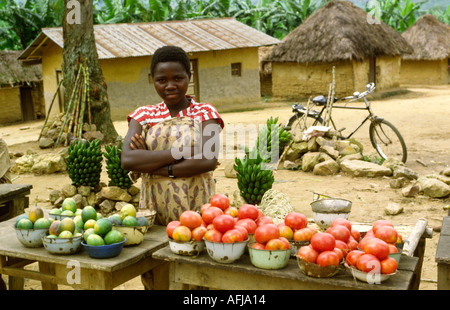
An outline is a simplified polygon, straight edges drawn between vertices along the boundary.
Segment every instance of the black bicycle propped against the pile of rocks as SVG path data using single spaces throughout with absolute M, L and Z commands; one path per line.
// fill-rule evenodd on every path
M 378 154 L 383 158 L 387 159 L 388 157 L 396 157 L 398 159 L 401 159 L 402 162 L 406 162 L 407 159 L 407 149 L 405 140 L 403 139 L 402 135 L 398 131 L 397 128 L 395 128 L 392 123 L 385 120 L 382 117 L 379 117 L 375 115 L 370 107 L 370 102 L 367 100 L 366 96 L 373 92 L 375 90 L 375 83 L 369 83 L 366 85 L 366 90 L 362 93 L 354 92 L 353 95 L 343 97 L 341 99 L 334 97 L 333 102 L 330 104 L 332 107 L 327 107 L 328 98 L 324 97 L 323 95 L 314 97 L 312 99 L 312 103 L 317 106 L 322 106 L 322 109 L 320 111 L 305 108 L 301 104 L 295 103 L 292 106 L 292 112 L 295 114 L 288 120 L 284 128 L 286 130 L 290 130 L 294 127 L 294 125 L 298 122 L 303 121 L 306 125 L 306 128 L 309 128 L 311 126 L 318 126 L 318 125 L 325 125 L 325 120 L 323 118 L 323 113 L 327 108 L 339 108 L 339 109 L 353 109 L 353 110 L 367 110 L 369 115 L 366 116 L 366 118 L 352 131 L 348 136 L 343 136 L 342 131 L 345 130 L 345 128 L 337 129 L 336 124 L 333 121 L 332 113 L 329 114 L 329 121 L 331 122 L 334 130 L 338 131 L 340 133 L 340 139 L 345 140 L 349 139 L 353 134 L 358 131 L 361 126 L 366 123 L 367 121 L 370 121 L 369 126 L 369 138 L 372 146 L 375 148 L 375 150 L 378 152 Z M 365 102 L 365 107 L 355 107 L 355 106 L 347 106 L 348 103 L 363 99 Z M 348 100 L 345 105 L 335 105 L 337 101 L 343 101 Z M 306 119 L 304 116 L 307 116 Z M 309 118 L 309 122 L 308 122 Z M 312 121 L 312 122 L 311 122 Z M 300 124 L 300 123 L 299 123 Z

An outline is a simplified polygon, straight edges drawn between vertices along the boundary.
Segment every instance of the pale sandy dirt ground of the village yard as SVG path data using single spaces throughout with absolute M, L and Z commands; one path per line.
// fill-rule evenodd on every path
M 225 124 L 228 124 L 228 128 L 232 127 L 230 124 L 262 124 L 270 116 L 279 117 L 279 122 L 284 124 L 292 114 L 291 104 L 292 102 L 272 99 L 261 104 L 263 109 L 222 113 L 222 117 Z M 372 108 L 377 115 L 393 123 L 403 135 L 408 147 L 407 167 L 423 176 L 439 173 L 450 165 L 450 85 L 407 88 L 407 92 L 401 95 L 374 99 Z M 361 111 L 335 109 L 333 116 L 338 126 L 345 126 L 350 130 L 363 120 L 365 114 Z M 58 149 L 40 150 L 38 148 L 36 141 L 42 125 L 43 121 L 34 121 L 0 127 L 0 137 L 7 142 L 10 152 L 26 152 L 28 149 L 41 153 L 58 151 Z M 115 122 L 114 125 L 119 134 L 125 136 L 126 122 Z M 365 155 L 374 152 L 368 139 L 366 125 L 356 133 L 355 138 L 364 145 Z M 224 166 L 233 159 L 234 157 L 223 153 L 220 159 L 221 165 L 215 171 L 216 192 L 228 194 L 230 197 L 237 189 L 237 182 L 236 179 L 225 177 Z M 14 177 L 14 183 L 33 185 L 30 202 L 38 199 L 38 205 L 43 207 L 50 206 L 47 198 L 52 189 L 59 189 L 62 184 L 70 182 L 67 174 L 46 176 L 22 174 L 14 175 Z M 107 179 L 106 173 L 102 178 Z M 308 218 L 312 218 L 310 202 L 313 199 L 313 192 L 351 200 L 353 205 L 350 220 L 354 222 L 371 223 L 385 218 L 398 225 L 414 225 L 419 218 L 425 218 L 429 227 L 436 227 L 441 224 L 442 218 L 447 216 L 445 207 L 450 203 L 449 197 L 431 199 L 419 195 L 414 198 L 405 198 L 399 189 L 389 187 L 389 180 L 390 178 L 351 178 L 344 174 L 316 176 L 311 172 L 277 170 L 273 188 L 285 193 L 295 210 L 304 213 Z M 390 202 L 400 204 L 404 212 L 395 216 L 385 215 L 384 209 Z M 438 232 L 426 240 L 420 285 L 422 290 L 437 288 L 435 253 L 438 240 Z M 3 278 L 7 280 L 5 276 Z M 25 289 L 41 289 L 40 283 L 26 280 Z M 143 289 L 143 286 L 140 279 L 136 278 L 117 289 Z

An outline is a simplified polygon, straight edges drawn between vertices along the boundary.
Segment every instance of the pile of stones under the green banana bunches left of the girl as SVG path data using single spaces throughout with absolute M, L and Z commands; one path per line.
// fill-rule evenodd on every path
M 109 216 L 120 211 L 122 206 L 128 203 L 138 208 L 140 189 L 134 185 L 128 189 L 122 189 L 117 186 L 107 186 L 103 182 L 100 182 L 95 188 L 66 184 L 61 190 L 52 190 L 49 194 L 49 201 L 52 207 L 59 208 L 64 199 L 68 197 L 75 200 L 79 209 L 93 206 L 103 216 Z

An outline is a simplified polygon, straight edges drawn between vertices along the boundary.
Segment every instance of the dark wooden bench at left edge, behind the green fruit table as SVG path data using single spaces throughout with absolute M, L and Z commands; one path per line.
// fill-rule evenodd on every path
M 33 186 L 0 184 L 0 222 L 24 213 L 30 203 L 28 195 Z

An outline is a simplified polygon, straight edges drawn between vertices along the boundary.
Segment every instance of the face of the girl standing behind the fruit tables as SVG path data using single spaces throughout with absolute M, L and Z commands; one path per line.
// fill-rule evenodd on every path
M 156 65 L 153 84 L 158 95 L 167 106 L 184 104 L 189 86 L 190 73 L 176 61 L 160 62 Z

